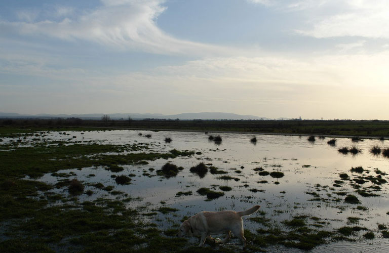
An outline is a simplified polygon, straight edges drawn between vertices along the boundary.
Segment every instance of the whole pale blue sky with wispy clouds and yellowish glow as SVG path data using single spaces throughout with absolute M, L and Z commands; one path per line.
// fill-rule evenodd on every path
M 0 112 L 389 119 L 387 0 L 0 7 Z

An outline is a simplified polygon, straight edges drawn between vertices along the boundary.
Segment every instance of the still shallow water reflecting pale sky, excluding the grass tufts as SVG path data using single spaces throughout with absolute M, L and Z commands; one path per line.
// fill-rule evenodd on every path
M 142 133 L 142 136 L 139 136 L 138 133 Z M 146 134 L 151 134 L 151 138 L 146 138 Z M 358 226 L 367 227 L 376 236 L 376 239 L 364 240 L 362 239 L 362 234 L 364 233 L 362 231 L 353 237 L 359 239 L 357 243 L 331 243 L 319 246 L 312 252 L 387 252 L 389 240 L 381 237 L 377 229 L 377 223 L 389 225 L 389 215 L 386 215 L 389 212 L 388 184 L 380 185 L 380 191 L 372 191 L 372 193 L 379 194 L 376 197 L 358 195 L 349 181 L 341 184 L 341 187 L 333 186 L 335 180 L 340 180 L 340 173 L 347 173 L 351 178 L 360 176 L 349 171 L 352 167 L 362 166 L 365 170 L 368 170 L 369 173 L 364 176 L 377 176 L 374 172 L 375 168 L 389 174 L 389 159 L 384 158 L 382 155 L 371 155 L 369 152 L 374 145 L 386 148 L 389 146 L 387 141 L 365 140 L 355 143 L 348 138 L 337 138 L 336 146 L 330 146 L 327 144 L 330 138 L 316 138 L 315 142 L 309 142 L 306 137 L 257 135 L 257 143 L 253 145 L 250 142 L 252 135 L 225 133 L 220 135 L 223 138 L 220 145 L 210 142 L 208 135 L 194 132 L 127 130 L 66 132 L 66 134 L 49 132 L 39 137 L 39 139 L 42 142 L 48 139 L 52 141 L 79 141 L 81 144 L 90 142 L 115 145 L 145 143 L 150 144 L 150 150 L 146 152 L 166 153 L 172 149 L 201 152 L 202 154 L 195 154 L 191 157 L 169 159 L 168 161 L 184 167 L 184 170 L 179 172 L 176 177 L 169 179 L 156 176 L 155 174 L 155 170 L 159 170 L 167 162 L 165 159 L 149 161 L 149 164 L 146 165 L 124 165 L 125 171 L 120 173 L 112 173 L 105 170 L 104 167 L 89 167 L 82 170 L 58 172 L 72 172 L 74 174 L 69 179 L 77 178 L 85 183 L 102 183 L 104 186 L 112 185 L 114 186 L 114 191 L 123 192 L 119 195 L 112 195 L 107 191 L 88 186 L 85 190 L 90 189 L 94 194 L 92 196 L 81 195 L 79 197 L 81 201 L 91 201 L 99 197 L 121 198 L 123 194 L 127 193 L 129 196 L 142 198 L 139 201 L 129 202 L 129 205 L 132 208 L 142 208 L 143 213 L 154 212 L 153 209 L 158 209 L 160 206 L 179 209 L 179 212 L 174 214 L 158 214 L 145 217 L 146 220 L 155 222 L 163 228 L 171 228 L 173 224 L 179 224 L 183 216 L 192 216 L 201 210 L 244 210 L 254 204 L 259 204 L 261 206 L 260 210 L 266 213 L 264 217 L 270 219 L 275 226 L 283 226 L 280 222 L 292 219 L 293 216 L 308 215 L 310 217 L 318 217 L 322 221 L 327 222 L 322 229 L 332 231 L 333 229 L 346 226 L 347 217 L 358 217 L 361 218 Z M 166 137 L 172 138 L 173 141 L 165 143 L 164 139 Z M 31 141 L 35 138 L 35 143 L 39 142 L 39 140 L 36 140 L 36 136 L 26 137 L 27 145 L 29 138 Z M 340 147 L 351 147 L 353 145 L 362 149 L 362 153 L 353 156 L 350 154 L 342 155 L 337 151 Z M 209 172 L 204 178 L 190 173 L 189 168 L 200 162 L 212 163 L 212 166 L 227 171 L 228 174 L 226 175 L 238 178 L 239 181 L 219 180 L 217 178 L 223 175 L 212 175 Z M 243 168 L 241 168 L 242 166 Z M 256 167 L 262 167 L 268 172 L 280 171 L 285 176 L 280 179 L 272 178 L 269 175 L 259 176 L 257 172 L 253 171 L 253 168 Z M 149 171 L 149 168 L 154 168 L 155 170 Z M 236 173 L 236 170 L 240 170 L 241 173 Z M 143 176 L 144 173 L 149 173 L 151 177 Z M 95 176 L 88 176 L 90 174 Z M 118 185 L 115 183 L 114 178 L 111 178 L 111 175 L 128 174 L 136 175 L 132 177 L 130 185 Z M 382 176 L 382 178 L 389 181 L 387 175 Z M 56 183 L 60 179 L 62 178 L 48 174 L 40 180 Z M 258 183 L 262 180 L 266 180 L 268 183 Z M 275 184 L 276 182 L 279 184 Z M 369 187 L 372 185 L 373 183 L 369 181 L 362 186 Z M 224 196 L 211 201 L 207 201 L 206 196 L 201 196 L 196 192 L 201 187 L 220 191 L 218 186 L 229 186 L 232 190 L 224 192 Z M 259 191 L 252 192 L 249 191 L 250 189 Z M 64 188 L 55 191 L 67 194 Z M 176 197 L 176 193 L 179 191 L 192 191 L 193 194 Z M 327 201 L 310 201 L 314 196 L 307 194 L 307 192 L 315 192 L 320 195 L 320 198 L 325 198 Z M 345 196 L 337 195 L 334 192 L 346 192 L 347 194 L 356 195 L 361 204 L 344 203 L 343 199 Z M 336 198 L 339 198 L 340 201 L 334 201 Z M 161 201 L 165 201 L 166 204 L 161 204 Z M 357 210 L 356 207 L 358 205 L 365 206 L 368 210 Z M 253 217 L 255 216 L 257 215 L 254 214 Z M 245 220 L 245 229 L 254 232 L 259 228 L 263 228 L 263 226 L 250 220 Z M 196 239 L 193 238 L 191 241 L 195 243 Z M 283 247 L 273 249 L 271 250 L 272 252 L 299 251 Z

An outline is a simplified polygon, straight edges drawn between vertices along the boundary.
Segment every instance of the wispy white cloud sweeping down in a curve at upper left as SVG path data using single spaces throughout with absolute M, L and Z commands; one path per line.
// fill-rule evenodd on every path
M 155 20 L 166 8 L 161 0 L 103 0 L 103 5 L 78 15 L 72 8 L 56 8 L 61 20 L 33 22 L 25 14 L 19 22 L 0 21 L 0 29 L 24 36 L 49 36 L 63 40 L 88 40 L 112 48 L 157 54 L 223 54 L 230 49 L 175 38 Z M 68 16 L 69 15 L 69 16 Z M 3 36 L 6 36 L 4 34 Z

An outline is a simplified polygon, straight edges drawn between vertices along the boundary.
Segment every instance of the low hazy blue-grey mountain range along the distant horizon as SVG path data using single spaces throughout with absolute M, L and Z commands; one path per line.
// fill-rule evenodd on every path
M 82 118 L 82 119 L 100 119 L 104 114 L 103 113 L 93 113 L 93 114 L 19 114 L 19 113 L 6 113 L 0 112 L 0 118 Z M 158 113 L 108 113 L 111 119 L 128 119 L 130 116 L 132 119 L 145 119 L 145 118 L 155 118 L 155 119 L 180 119 L 180 120 L 190 120 L 190 119 L 262 119 L 269 120 L 270 118 L 258 117 L 254 115 L 239 115 L 235 113 L 226 113 L 226 112 L 199 112 L 199 113 L 181 113 L 181 114 L 172 114 L 164 115 Z M 271 118 L 273 119 L 273 118 Z M 276 120 L 287 120 L 290 118 L 275 118 Z

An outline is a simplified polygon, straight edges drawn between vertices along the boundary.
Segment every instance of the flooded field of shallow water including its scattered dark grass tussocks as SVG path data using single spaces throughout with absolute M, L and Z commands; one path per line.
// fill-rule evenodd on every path
M 222 140 L 215 141 L 210 135 Z M 34 180 L 57 186 L 45 194 L 68 196 L 68 188 L 61 187 L 61 182 L 77 179 L 85 185 L 84 193 L 75 197 L 79 202 L 131 197 L 128 205 L 139 210 L 140 219 L 162 230 L 177 229 L 185 216 L 201 210 L 240 211 L 258 204 L 259 211 L 244 218 L 248 243 L 260 240 L 253 234 L 264 240 L 276 235 L 279 237 L 275 240 L 284 242 L 267 245 L 263 250 L 387 252 L 389 159 L 370 152 L 374 146 L 387 148 L 387 141 L 336 138 L 335 145 L 329 145 L 332 138 L 308 141 L 298 136 L 257 135 L 252 140 L 253 137 L 127 130 L 42 132 L 2 138 L 1 144 L 124 147 L 105 155 L 185 151 L 185 155 L 175 158 L 60 170 Z M 344 147 L 355 147 L 360 152 L 353 155 L 338 151 Z M 161 171 L 166 163 L 177 166 L 177 175 Z M 196 166 L 203 171 L 196 173 Z M 126 176 L 123 178 L 128 182 L 121 183 L 120 176 Z M 205 189 L 199 191 L 202 188 Z M 61 203 L 58 200 L 53 205 Z M 297 234 L 328 243 L 298 244 L 302 239 Z M 280 239 L 282 236 L 285 238 Z M 198 244 L 198 240 L 190 238 L 188 244 Z M 235 246 L 239 240 L 234 238 L 230 243 Z

